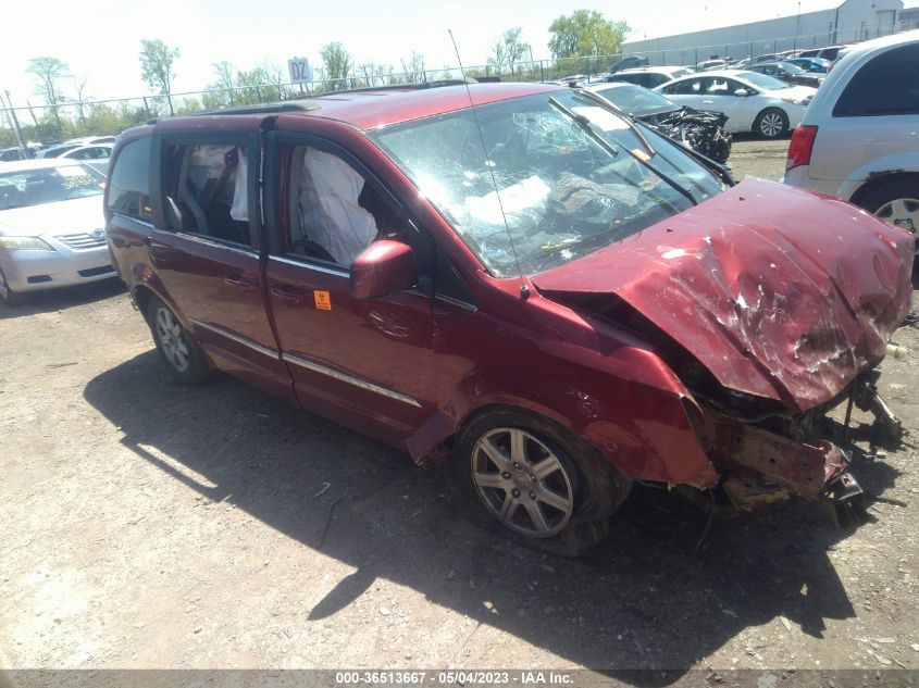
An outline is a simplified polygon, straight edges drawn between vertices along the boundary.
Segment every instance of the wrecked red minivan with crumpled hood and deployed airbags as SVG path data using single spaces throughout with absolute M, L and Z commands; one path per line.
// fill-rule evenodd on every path
M 547 85 L 337 92 L 125 132 L 114 264 L 170 373 L 231 373 L 578 554 L 636 480 L 706 508 L 857 493 L 827 413 L 877 365 L 911 236 Z M 440 451 L 447 448 L 449 452 Z M 709 506 L 711 505 L 711 506 Z

